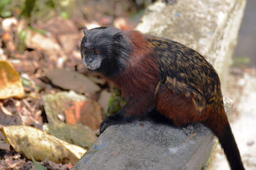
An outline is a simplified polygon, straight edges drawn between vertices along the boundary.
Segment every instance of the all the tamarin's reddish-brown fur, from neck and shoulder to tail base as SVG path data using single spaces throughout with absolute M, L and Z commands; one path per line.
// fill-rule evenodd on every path
M 216 110 L 218 106 L 207 105 L 200 113 L 190 97 L 175 94 L 164 85 L 159 87 L 154 98 L 160 72 L 152 58 L 151 49 L 140 32 L 126 31 L 126 34 L 132 44 L 132 52 L 126 63 L 127 69 L 112 80 L 128 99 L 125 116 L 142 116 L 150 107 L 156 106 L 176 126 L 202 122 L 214 133 L 220 133 L 226 125 L 227 117 L 223 109 Z

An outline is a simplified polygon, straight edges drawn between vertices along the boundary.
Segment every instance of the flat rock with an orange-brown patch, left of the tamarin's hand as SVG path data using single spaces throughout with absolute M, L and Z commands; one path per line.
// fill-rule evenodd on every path
M 101 106 L 74 91 L 47 94 L 42 97 L 49 124 L 81 123 L 95 130 L 102 121 Z

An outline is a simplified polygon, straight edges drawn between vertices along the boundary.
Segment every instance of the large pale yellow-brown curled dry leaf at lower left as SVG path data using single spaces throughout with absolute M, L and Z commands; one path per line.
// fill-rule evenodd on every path
M 0 130 L 15 151 L 23 152 L 28 159 L 31 159 L 31 154 L 38 161 L 47 158 L 50 161 L 75 164 L 86 152 L 80 146 L 69 144 L 34 127 L 8 126 Z

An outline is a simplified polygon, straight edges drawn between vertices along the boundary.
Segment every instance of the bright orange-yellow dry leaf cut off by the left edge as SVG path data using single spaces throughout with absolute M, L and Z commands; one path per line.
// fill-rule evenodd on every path
M 0 99 L 24 97 L 24 88 L 19 73 L 7 60 L 0 60 Z

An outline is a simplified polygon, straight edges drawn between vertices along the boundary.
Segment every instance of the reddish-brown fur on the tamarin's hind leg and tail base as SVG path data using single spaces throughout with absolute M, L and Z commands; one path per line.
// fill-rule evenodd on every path
M 221 135 L 223 128 L 228 122 L 226 113 L 221 109 L 221 106 L 213 107 L 212 105 L 207 105 L 199 113 L 191 98 L 175 94 L 163 85 L 159 87 L 159 91 L 156 94 L 156 107 L 161 114 L 171 119 L 176 126 L 202 122 L 217 135 Z

